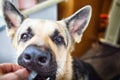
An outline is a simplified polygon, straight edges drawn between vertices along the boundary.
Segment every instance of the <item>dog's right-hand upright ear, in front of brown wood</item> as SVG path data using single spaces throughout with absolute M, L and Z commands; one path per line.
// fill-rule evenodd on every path
M 81 36 L 88 26 L 91 18 L 91 12 L 91 6 L 88 5 L 78 10 L 72 16 L 64 19 L 71 36 L 77 43 L 80 42 Z

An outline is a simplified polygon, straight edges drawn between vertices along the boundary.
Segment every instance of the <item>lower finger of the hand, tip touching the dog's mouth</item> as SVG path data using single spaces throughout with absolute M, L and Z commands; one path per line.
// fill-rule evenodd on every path
M 14 73 L 0 76 L 0 80 L 26 80 L 29 72 L 26 69 L 20 69 Z

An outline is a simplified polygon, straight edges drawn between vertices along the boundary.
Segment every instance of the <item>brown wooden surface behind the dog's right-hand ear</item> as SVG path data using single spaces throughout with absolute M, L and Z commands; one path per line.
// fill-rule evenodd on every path
M 81 57 L 92 45 L 92 43 L 98 41 L 99 37 L 99 16 L 101 13 L 108 12 L 109 1 L 111 0 L 66 0 L 58 5 L 58 19 L 63 19 L 85 5 L 92 6 L 92 18 L 87 30 L 84 33 L 81 43 L 76 44 L 73 55 L 75 57 Z M 105 5 L 104 2 L 106 2 Z M 103 5 L 105 5 L 105 10 Z M 106 11 L 107 10 L 107 11 Z

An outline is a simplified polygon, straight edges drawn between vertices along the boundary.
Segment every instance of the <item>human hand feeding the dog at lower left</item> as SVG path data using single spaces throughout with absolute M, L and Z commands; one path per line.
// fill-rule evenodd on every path
M 17 64 L 0 64 L 0 80 L 26 80 L 28 76 L 29 72 Z

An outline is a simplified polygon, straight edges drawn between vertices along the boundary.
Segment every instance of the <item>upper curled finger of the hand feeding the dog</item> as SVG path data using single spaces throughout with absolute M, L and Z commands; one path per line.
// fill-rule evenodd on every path
M 17 64 L 12 64 L 12 63 L 4 63 L 0 64 L 0 72 L 2 73 L 9 73 L 9 72 L 14 72 L 18 69 L 22 69 L 23 67 L 17 65 Z

